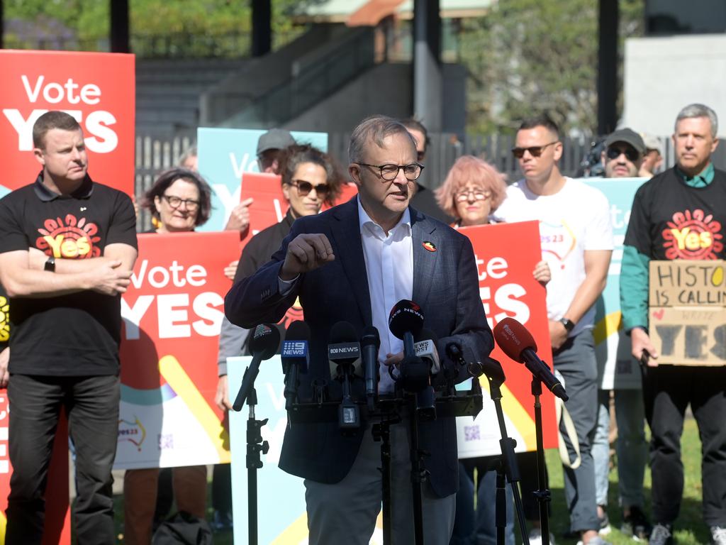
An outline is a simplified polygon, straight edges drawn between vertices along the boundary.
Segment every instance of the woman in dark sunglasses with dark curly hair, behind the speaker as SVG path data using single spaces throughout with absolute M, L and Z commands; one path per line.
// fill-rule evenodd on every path
M 326 153 L 311 145 L 292 145 L 282 150 L 279 158 L 282 194 L 289 204 L 282 222 L 261 230 L 245 246 L 240 257 L 240 266 L 234 275 L 234 283 L 256 273 L 259 267 L 269 261 L 272 254 L 280 248 L 282 239 L 298 217 L 318 214 L 322 205 L 333 206 L 340 194 L 342 175 L 333 160 Z M 284 331 L 282 332 L 284 335 Z M 247 330 L 229 323 L 227 318 L 222 324 L 224 350 L 220 355 L 239 355 L 246 353 Z M 232 408 L 227 395 L 227 368 L 219 365 L 219 383 L 216 403 L 221 410 Z

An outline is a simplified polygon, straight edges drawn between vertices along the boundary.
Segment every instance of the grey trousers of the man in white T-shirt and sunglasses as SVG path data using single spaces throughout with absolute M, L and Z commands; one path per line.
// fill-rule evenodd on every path
M 563 467 L 570 529 L 597 530 L 600 523 L 597 520 L 595 501 L 595 464 L 590 451 L 597 426 L 597 363 L 592 331 L 585 329 L 568 339 L 552 359 L 555 369 L 565 379 L 565 389 L 570 397 L 565 407 L 574 421 L 582 457 L 582 463 L 577 469 Z M 574 459 L 574 450 L 564 426 L 561 427 L 561 432 L 565 437 L 570 459 Z

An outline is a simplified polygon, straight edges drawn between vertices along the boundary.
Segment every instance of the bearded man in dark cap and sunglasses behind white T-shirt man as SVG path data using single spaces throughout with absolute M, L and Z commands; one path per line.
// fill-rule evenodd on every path
M 645 143 L 640 134 L 632 129 L 618 129 L 605 140 L 602 160 L 606 178 L 637 177 Z M 624 337 L 621 337 L 621 340 Z M 630 356 L 627 342 L 620 342 L 614 374 L 624 374 L 627 385 L 616 384 L 597 390 L 597 428 L 592 440 L 592 461 L 595 463 L 595 497 L 597 517 L 600 519 L 600 533 L 610 531 L 608 514 L 608 474 L 610 472 L 610 399 L 613 392 L 615 416 L 618 424 L 616 452 L 618 456 L 618 487 L 620 505 L 623 507 L 621 532 L 638 539 L 648 538 L 650 522 L 643 511 L 643 477 L 647 462 L 647 443 L 645 442 L 645 411 L 643 389 L 640 387 L 640 373 L 637 362 Z M 624 349 L 621 353 L 620 349 Z M 607 358 L 599 358 L 598 367 L 605 365 Z M 632 384 L 632 376 L 637 376 L 637 387 Z M 602 379 L 600 379 L 602 380 Z M 623 382 L 623 381 L 620 381 Z M 602 386 L 602 382 L 600 383 Z

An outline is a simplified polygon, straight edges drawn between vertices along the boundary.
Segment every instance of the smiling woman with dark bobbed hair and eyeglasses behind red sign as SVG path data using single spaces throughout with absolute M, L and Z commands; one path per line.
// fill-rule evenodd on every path
M 148 233 L 188 233 L 209 219 L 211 189 L 195 171 L 169 169 L 159 174 L 154 185 L 144 194 L 142 206 L 149 209 L 157 220 L 156 228 Z M 159 468 L 129 469 L 123 476 L 126 544 L 148 545 L 151 542 L 155 522 L 160 522 L 154 520 L 158 510 L 159 474 Z M 171 483 L 177 510 L 204 519 L 207 467 L 175 467 L 171 470 Z M 169 506 L 166 506 L 167 511 Z M 162 507 L 160 510 L 165 509 Z M 156 516 L 163 518 L 166 513 Z

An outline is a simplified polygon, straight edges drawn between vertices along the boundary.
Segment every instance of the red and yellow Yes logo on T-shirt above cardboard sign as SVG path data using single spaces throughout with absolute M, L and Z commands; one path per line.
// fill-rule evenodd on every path
M 717 259 L 723 250 L 721 223 L 701 209 L 673 214 L 663 230 L 666 259 Z

